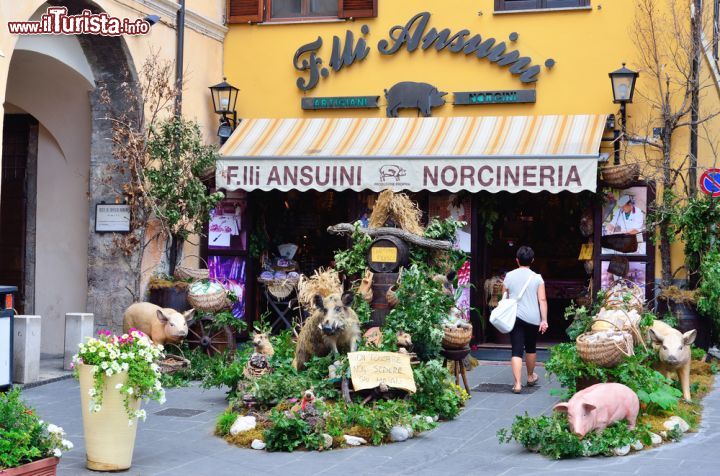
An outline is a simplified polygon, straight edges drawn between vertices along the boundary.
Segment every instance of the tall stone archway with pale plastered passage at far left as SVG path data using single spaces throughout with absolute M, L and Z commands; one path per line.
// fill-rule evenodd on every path
M 102 11 L 86 0 L 51 0 L 34 16 L 49 5 Z M 111 236 L 94 232 L 94 210 L 113 199 L 102 180 L 113 160 L 107 117 L 129 106 L 124 85 L 135 77 L 121 37 L 27 36 L 12 52 L 3 171 L 15 173 L 3 174 L 0 208 L 15 225 L 0 228 L 0 242 L 15 248 L 0 275 L 9 272 L 8 284 L 22 290 L 21 311 L 42 316 L 46 355 L 63 352 L 65 313 L 92 312 L 97 326 L 117 331 L 131 302 L 127 267 Z

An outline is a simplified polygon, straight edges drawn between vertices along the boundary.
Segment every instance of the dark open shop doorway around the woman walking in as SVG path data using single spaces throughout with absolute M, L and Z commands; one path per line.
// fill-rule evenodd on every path
M 572 299 L 587 292 L 592 278 L 578 260 L 583 243 L 592 242 L 592 236 L 584 236 L 581 231 L 587 228 L 580 226 L 583 216 L 593 216 L 591 197 L 589 193 L 521 192 L 500 193 L 492 198 L 499 218 L 493 228 L 492 242 L 483 245 L 483 282 L 515 269 L 518 248 L 532 247 L 535 262 L 531 268 L 542 275 L 548 297 L 550 327 L 538 339 L 546 345 L 567 340 L 565 329 L 569 321 L 564 319 L 565 308 Z M 592 223 L 589 226 L 592 230 Z M 478 302 L 483 304 L 487 319 L 490 310 L 487 295 L 484 286 L 478 288 L 481 290 Z M 497 332 L 487 321 L 485 329 L 487 343 L 509 343 L 508 336 Z

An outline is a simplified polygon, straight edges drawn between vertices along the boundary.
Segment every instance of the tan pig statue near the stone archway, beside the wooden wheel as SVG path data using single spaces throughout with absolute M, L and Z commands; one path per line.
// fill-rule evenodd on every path
M 178 344 L 187 336 L 187 321 L 194 313 L 195 309 L 181 314 L 149 302 L 137 302 L 125 311 L 123 331 L 127 333 L 134 327 L 155 344 Z

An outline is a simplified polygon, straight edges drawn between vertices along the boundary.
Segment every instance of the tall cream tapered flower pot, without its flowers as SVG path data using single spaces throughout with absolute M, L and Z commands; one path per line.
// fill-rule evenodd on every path
M 127 373 L 105 377 L 102 408 L 99 412 L 91 412 L 88 392 L 94 386 L 93 368 L 94 365 L 79 366 L 87 467 L 96 471 L 128 469 L 132 464 L 137 421 L 133 420 L 132 425 L 128 425 L 123 397 L 115 388 L 127 381 Z M 140 401 L 131 400 L 131 408 L 139 409 Z

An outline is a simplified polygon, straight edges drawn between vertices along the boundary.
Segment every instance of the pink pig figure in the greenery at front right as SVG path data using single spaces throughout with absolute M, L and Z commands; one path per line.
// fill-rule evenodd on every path
M 598 383 L 579 391 L 569 402 L 558 403 L 553 410 L 567 413 L 570 431 L 582 438 L 620 420 L 627 420 L 632 430 L 640 411 L 640 400 L 625 385 Z

